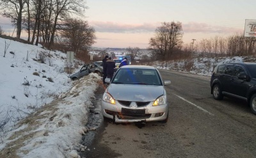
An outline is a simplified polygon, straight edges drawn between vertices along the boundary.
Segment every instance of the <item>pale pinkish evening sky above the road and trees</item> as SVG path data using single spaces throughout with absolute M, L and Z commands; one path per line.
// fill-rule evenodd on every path
M 93 47 L 147 48 L 155 29 L 173 21 L 182 23 L 184 43 L 200 42 L 243 34 L 245 19 L 256 19 L 254 0 L 86 0 L 86 5 L 84 20 L 97 36 Z M 0 18 L 0 26 L 7 23 Z

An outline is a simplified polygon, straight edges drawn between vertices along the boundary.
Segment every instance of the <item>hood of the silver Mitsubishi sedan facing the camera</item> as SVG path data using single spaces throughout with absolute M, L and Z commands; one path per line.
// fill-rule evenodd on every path
M 151 102 L 165 94 L 163 86 L 138 84 L 109 84 L 106 90 L 115 100 Z

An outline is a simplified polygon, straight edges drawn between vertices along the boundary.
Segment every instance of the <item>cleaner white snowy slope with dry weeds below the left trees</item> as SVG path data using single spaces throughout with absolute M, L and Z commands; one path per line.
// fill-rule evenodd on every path
M 5 42 L 10 47 L 3 57 Z M 62 52 L 3 38 L 0 38 L 0 48 L 0 127 L 5 130 L 67 91 L 71 83 L 64 73 L 65 54 Z M 35 61 L 40 58 L 44 58 L 45 64 Z M 2 137 L 3 134 L 1 131 Z

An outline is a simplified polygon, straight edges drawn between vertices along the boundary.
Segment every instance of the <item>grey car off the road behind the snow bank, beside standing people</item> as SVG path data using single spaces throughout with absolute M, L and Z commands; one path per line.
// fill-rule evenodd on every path
M 70 79 L 72 80 L 80 79 L 84 75 L 88 75 L 91 72 L 97 73 L 100 76 L 102 76 L 103 74 L 102 61 L 95 61 L 93 63 L 83 65 L 83 67 L 81 67 L 79 72 L 76 72 L 75 74 L 70 75 Z

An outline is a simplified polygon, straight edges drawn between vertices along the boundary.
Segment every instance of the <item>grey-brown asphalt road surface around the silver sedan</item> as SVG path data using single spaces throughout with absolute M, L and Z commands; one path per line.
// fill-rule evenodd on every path
M 104 121 L 81 157 L 256 157 L 256 115 L 246 102 L 214 100 L 209 77 L 161 75 L 172 81 L 168 123 Z

